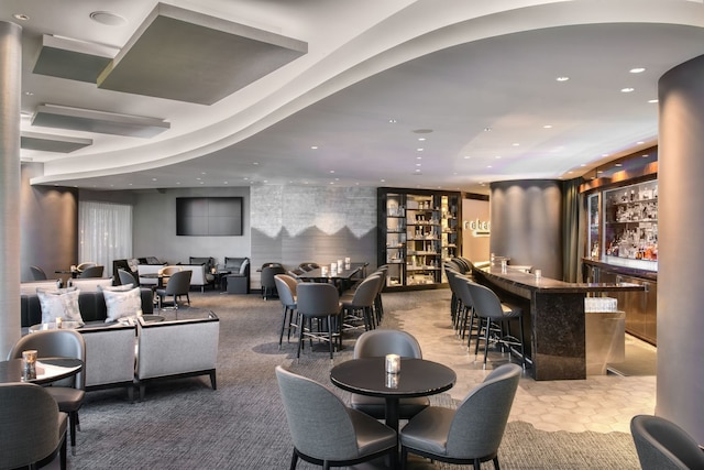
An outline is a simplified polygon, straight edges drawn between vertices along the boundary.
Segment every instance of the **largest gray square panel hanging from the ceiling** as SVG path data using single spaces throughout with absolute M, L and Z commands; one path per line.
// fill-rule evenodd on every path
M 98 87 L 212 105 L 307 50 L 301 41 L 160 3 Z

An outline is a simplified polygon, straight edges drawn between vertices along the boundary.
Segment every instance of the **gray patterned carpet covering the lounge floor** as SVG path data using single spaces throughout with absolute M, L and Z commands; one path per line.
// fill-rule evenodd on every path
M 328 379 L 327 347 L 306 348 L 297 362 L 295 342 L 278 348 L 282 309 L 258 295 L 193 294 L 195 306 L 221 320 L 218 390 L 207 376 L 146 387 L 143 402 L 129 403 L 122 390 L 89 392 L 80 412 L 77 455 L 70 469 L 287 469 L 292 445 L 274 368 L 283 364 L 315 379 L 343 400 Z M 403 327 L 403 309 L 424 303 L 421 293 L 384 294 L 383 327 Z M 430 307 L 430 306 L 429 306 Z M 437 306 L 436 306 L 437 307 Z M 345 339 L 334 363 L 352 356 Z M 447 395 L 433 403 L 454 406 Z M 499 450 L 503 469 L 639 468 L 629 435 L 547 433 L 527 423 L 509 423 Z M 462 469 L 414 459 L 413 469 Z M 299 462 L 299 469 L 315 466 Z M 361 466 L 360 468 L 364 468 Z M 493 468 L 491 462 L 483 468 Z

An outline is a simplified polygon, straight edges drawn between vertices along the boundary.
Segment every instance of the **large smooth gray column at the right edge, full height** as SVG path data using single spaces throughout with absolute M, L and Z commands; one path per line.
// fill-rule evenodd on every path
M 704 442 L 704 55 L 659 83 L 656 414 Z

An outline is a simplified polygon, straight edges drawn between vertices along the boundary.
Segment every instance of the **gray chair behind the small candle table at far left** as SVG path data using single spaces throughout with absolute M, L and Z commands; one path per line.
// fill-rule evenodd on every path
M 76 358 L 86 362 L 86 342 L 84 337 L 70 329 L 36 331 L 23 336 L 12 347 L 8 359 L 21 358 L 22 351 L 36 349 L 40 358 Z M 78 411 L 86 396 L 86 374 L 53 382 L 46 390 L 58 403 L 58 409 L 68 413 L 72 453 L 76 452 L 76 429 L 79 427 Z

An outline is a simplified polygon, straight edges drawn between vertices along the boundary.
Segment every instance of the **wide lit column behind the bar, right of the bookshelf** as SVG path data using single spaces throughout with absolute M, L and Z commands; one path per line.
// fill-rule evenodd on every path
M 531 265 L 562 278 L 562 185 L 551 179 L 491 185 L 490 251 L 510 264 Z

